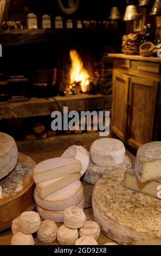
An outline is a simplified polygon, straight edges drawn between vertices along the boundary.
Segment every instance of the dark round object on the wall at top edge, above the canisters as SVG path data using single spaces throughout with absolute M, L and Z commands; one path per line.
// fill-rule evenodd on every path
M 58 0 L 61 10 L 66 14 L 73 14 L 79 7 L 79 0 Z

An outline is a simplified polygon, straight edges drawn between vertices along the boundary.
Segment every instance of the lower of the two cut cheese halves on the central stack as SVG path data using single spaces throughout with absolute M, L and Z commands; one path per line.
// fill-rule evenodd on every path
M 41 183 L 36 184 L 36 191 L 38 196 L 43 199 L 45 197 L 48 197 L 50 194 L 53 194 L 54 192 L 60 190 L 63 187 L 68 186 L 69 184 L 72 184 L 74 181 L 80 179 L 80 172 L 79 173 L 73 173 L 66 176 L 61 176 L 56 179 L 44 181 Z

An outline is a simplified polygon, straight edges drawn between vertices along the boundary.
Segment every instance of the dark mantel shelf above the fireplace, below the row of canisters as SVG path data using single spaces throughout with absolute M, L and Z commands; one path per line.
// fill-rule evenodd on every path
M 0 32 L 2 46 L 18 46 L 45 42 L 104 42 L 119 34 L 118 29 L 25 29 Z

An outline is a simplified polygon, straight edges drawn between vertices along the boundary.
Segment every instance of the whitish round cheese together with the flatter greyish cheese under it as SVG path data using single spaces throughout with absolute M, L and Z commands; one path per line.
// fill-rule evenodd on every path
M 90 156 L 91 161 L 83 180 L 93 185 L 113 170 L 131 168 L 131 160 L 125 155 L 124 144 L 118 139 L 102 138 L 93 142 Z

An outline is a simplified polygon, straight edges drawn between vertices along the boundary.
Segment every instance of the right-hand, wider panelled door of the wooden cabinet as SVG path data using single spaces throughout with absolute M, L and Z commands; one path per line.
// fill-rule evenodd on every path
M 138 149 L 152 141 L 158 82 L 130 78 L 127 144 Z

